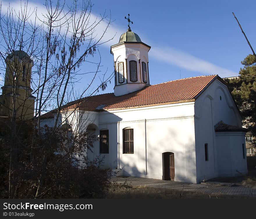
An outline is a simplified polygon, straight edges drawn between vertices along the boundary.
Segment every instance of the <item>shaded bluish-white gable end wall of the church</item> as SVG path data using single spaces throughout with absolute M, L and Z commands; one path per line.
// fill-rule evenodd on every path
M 241 116 L 235 106 L 235 103 L 228 91 L 228 88 L 221 81 L 216 79 L 195 101 L 195 145 L 196 145 L 196 169 L 197 183 L 202 180 L 208 180 L 218 176 L 223 171 L 220 160 L 234 162 L 229 158 L 227 152 L 230 151 L 236 141 L 230 139 L 239 139 L 245 141 L 244 136 L 241 138 L 241 133 L 237 132 L 237 136 L 225 136 L 222 140 L 218 140 L 214 125 L 219 121 L 223 121 L 228 125 L 241 126 Z M 240 137 L 239 137 L 240 136 Z M 223 143 L 220 145 L 220 143 Z M 205 144 L 208 144 L 208 160 L 205 160 Z M 230 146 L 231 144 L 231 146 Z M 227 149 L 227 147 L 231 147 Z M 241 148 L 241 147 L 240 147 Z M 237 151 L 237 153 L 239 153 Z M 240 151 L 240 154 L 242 152 Z M 239 161 L 240 162 L 240 161 Z M 241 168 L 244 169 L 244 162 L 241 163 Z M 225 167 L 223 167 L 225 168 Z

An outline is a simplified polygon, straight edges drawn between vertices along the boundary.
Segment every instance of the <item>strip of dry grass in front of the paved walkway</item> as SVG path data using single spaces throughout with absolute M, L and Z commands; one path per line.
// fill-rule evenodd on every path
M 179 191 L 176 189 L 153 188 L 153 187 L 112 187 L 107 198 L 115 199 L 179 199 L 179 198 L 194 198 L 194 199 L 217 199 L 217 198 L 249 198 L 244 196 L 230 195 L 209 195 L 192 191 Z

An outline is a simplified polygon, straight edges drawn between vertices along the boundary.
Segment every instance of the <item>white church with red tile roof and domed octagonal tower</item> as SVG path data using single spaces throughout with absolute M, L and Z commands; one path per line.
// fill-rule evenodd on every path
M 69 105 L 99 138 L 88 158 L 104 156 L 102 168 L 124 176 L 181 182 L 246 174 L 246 129 L 225 82 L 216 74 L 150 85 L 149 50 L 129 28 L 111 46 L 114 92 L 84 98 L 75 112 Z

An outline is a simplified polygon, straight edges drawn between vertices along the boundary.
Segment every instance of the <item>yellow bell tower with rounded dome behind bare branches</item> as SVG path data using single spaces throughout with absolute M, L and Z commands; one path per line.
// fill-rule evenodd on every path
M 33 60 L 29 55 L 16 50 L 6 59 L 6 73 L 2 95 L 0 96 L 0 113 L 11 117 L 15 110 L 17 119 L 29 119 L 34 116 L 35 97 L 31 95 L 31 70 Z

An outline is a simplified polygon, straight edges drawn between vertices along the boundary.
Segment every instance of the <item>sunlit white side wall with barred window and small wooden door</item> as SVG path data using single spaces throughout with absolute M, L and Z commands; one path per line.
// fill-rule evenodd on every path
M 162 153 L 173 152 L 175 181 L 196 182 L 194 103 L 122 109 L 99 113 L 99 129 L 109 129 L 112 169 L 126 176 L 162 179 Z M 134 154 L 123 154 L 122 130 L 134 129 Z M 145 133 L 146 132 L 146 133 Z

